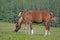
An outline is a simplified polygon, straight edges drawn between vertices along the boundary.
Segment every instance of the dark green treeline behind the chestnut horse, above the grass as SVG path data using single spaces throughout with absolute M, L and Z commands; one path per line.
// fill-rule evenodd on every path
M 60 0 L 0 0 L 0 21 L 15 23 L 20 10 L 49 10 L 59 19 Z

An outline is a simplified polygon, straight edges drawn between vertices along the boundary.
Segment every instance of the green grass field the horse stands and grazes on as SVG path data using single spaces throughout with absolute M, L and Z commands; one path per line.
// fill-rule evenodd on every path
M 15 24 L 0 21 L 0 40 L 60 40 L 60 28 L 51 27 L 51 35 L 44 36 L 45 27 L 33 25 L 34 34 L 24 33 L 23 25 L 19 32 L 14 32 Z

